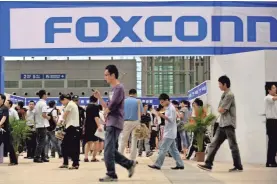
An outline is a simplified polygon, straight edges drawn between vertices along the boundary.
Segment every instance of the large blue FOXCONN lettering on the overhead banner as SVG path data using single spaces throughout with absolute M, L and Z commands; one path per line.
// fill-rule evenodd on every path
M 125 38 L 129 38 L 132 42 L 143 42 L 146 38 L 150 42 L 172 42 L 173 39 L 178 39 L 182 42 L 201 42 L 206 39 L 212 42 L 221 41 L 221 30 L 224 26 L 222 23 L 233 23 L 234 42 L 256 42 L 257 29 L 259 23 L 267 23 L 269 29 L 269 42 L 277 42 L 277 20 L 272 16 L 247 16 L 246 21 L 243 21 L 238 16 L 211 16 L 211 21 L 207 21 L 202 16 L 180 16 L 173 22 L 172 16 L 149 16 L 146 20 L 142 20 L 142 16 L 132 16 L 128 20 L 121 16 L 111 16 L 110 19 L 115 24 L 109 24 L 104 17 L 81 17 L 77 21 L 73 21 L 72 17 L 50 17 L 45 22 L 45 43 L 55 43 L 55 36 L 59 34 L 70 34 L 72 32 L 72 24 L 76 28 L 76 38 L 80 42 L 112 42 L 120 43 Z M 144 21 L 144 35 L 139 34 L 134 26 Z M 171 22 L 174 26 L 174 35 L 159 35 L 159 30 L 155 30 L 156 24 Z M 64 24 L 68 27 L 59 28 L 59 24 Z M 99 30 L 97 36 L 87 36 L 85 25 L 98 24 Z M 195 30 L 195 35 L 185 34 L 187 29 L 185 23 L 197 23 L 198 29 Z M 114 29 L 114 26 L 119 27 L 118 33 L 114 38 L 108 39 L 109 31 Z M 211 27 L 211 29 L 208 29 Z M 244 29 L 247 35 L 244 36 Z M 211 30 L 211 38 L 207 38 L 208 30 Z M 230 30 L 231 31 L 231 30 Z M 267 33 L 268 34 L 268 33 Z

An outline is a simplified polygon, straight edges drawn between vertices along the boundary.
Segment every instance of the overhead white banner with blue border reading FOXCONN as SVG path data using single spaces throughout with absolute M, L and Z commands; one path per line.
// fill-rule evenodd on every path
M 13 55 L 217 55 L 277 48 L 274 4 L 94 5 L 10 8 L 8 50 Z

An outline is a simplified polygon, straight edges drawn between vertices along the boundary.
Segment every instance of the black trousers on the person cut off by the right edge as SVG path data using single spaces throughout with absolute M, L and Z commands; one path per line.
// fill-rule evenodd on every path
M 277 119 L 266 120 L 266 133 L 268 136 L 267 164 L 276 164 L 277 152 Z

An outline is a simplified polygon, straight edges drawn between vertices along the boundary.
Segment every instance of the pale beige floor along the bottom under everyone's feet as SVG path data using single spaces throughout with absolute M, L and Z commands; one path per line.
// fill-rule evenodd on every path
M 127 171 L 117 166 L 119 181 L 122 184 L 276 184 L 277 169 L 268 169 L 262 165 L 244 165 L 242 173 L 228 173 L 230 163 L 215 163 L 213 172 L 199 170 L 194 161 L 185 162 L 185 170 L 172 171 L 174 162 L 167 158 L 161 171 L 147 167 L 151 158 L 138 158 L 139 165 L 133 178 L 127 177 Z M 51 159 L 50 163 L 35 164 L 32 160 L 20 158 L 20 165 L 8 167 L 8 160 L 0 164 L 0 184 L 96 184 L 98 178 L 105 174 L 103 162 L 81 162 L 79 170 L 58 169 L 60 159 Z

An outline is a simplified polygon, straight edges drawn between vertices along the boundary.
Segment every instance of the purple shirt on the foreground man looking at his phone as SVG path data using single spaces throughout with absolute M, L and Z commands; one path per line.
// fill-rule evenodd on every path
M 124 87 L 122 84 L 116 85 L 112 88 L 109 94 L 110 102 L 108 108 L 110 113 L 107 117 L 107 126 L 113 126 L 119 129 L 123 129 L 124 123 Z

